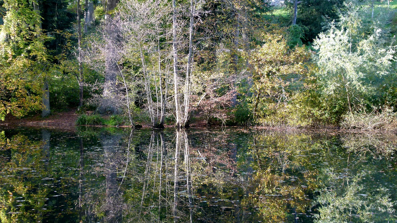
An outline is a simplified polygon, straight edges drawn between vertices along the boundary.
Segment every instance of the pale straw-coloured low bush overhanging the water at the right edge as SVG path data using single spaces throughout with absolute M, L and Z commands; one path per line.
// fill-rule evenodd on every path
M 382 111 L 373 110 L 371 113 L 355 112 L 343 116 L 341 127 L 359 130 L 397 130 L 397 113 L 393 108 L 383 108 Z

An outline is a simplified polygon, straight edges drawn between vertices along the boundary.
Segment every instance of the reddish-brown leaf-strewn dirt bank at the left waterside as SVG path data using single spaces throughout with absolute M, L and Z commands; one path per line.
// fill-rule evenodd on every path
M 46 118 L 42 118 L 40 115 L 35 115 L 33 117 L 18 119 L 11 115 L 7 115 L 5 121 L 0 121 L 0 128 L 2 126 L 23 126 L 75 130 L 75 121 L 78 116 L 79 115 L 76 114 L 76 110 L 71 110 L 69 112 L 54 112 Z

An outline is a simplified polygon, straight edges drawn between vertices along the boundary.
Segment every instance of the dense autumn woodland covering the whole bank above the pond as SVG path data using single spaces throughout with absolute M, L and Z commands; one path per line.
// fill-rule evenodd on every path
M 396 12 L 392 0 L 0 0 L 0 119 L 395 130 Z

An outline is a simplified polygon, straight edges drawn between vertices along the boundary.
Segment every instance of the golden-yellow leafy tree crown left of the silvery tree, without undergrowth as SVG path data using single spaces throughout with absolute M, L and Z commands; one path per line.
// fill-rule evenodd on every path
M 254 95 L 252 96 L 254 118 L 266 116 L 266 109 L 274 105 L 287 105 L 295 92 L 310 75 L 311 53 L 304 46 L 290 49 L 281 33 L 265 34 L 266 41 L 258 46 L 251 57 Z M 303 90 L 303 89 L 302 89 Z M 260 112 L 261 111 L 261 112 Z

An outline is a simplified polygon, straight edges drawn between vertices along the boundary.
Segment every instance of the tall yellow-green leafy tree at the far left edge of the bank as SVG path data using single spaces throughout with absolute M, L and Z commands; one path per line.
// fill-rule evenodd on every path
M 44 46 L 39 6 L 28 1 L 9 1 L 1 26 L 2 95 L 1 119 L 7 113 L 17 117 L 42 108 L 42 116 L 50 112 L 47 74 L 51 65 Z M 38 88 L 41 83 L 41 89 Z M 38 95 L 42 94 L 41 102 Z

